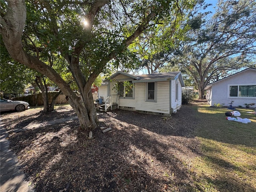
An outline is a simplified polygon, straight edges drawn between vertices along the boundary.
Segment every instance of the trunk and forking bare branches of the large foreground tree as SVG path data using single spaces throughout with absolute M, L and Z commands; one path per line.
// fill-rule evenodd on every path
M 59 37 L 59 24 L 62 21 L 56 21 L 56 12 L 51 11 L 51 6 L 49 1 L 39 1 L 41 8 L 44 9 L 44 12 L 48 12 L 47 16 L 44 18 L 50 18 L 50 32 L 52 32 L 51 37 L 55 36 L 55 38 L 59 38 L 63 40 L 64 37 Z M 68 2 L 63 2 L 63 4 Z M 78 2 L 79 3 L 79 2 Z M 80 2 L 83 4 L 83 2 Z M 94 2 L 85 2 L 84 4 L 90 4 L 90 8 L 88 9 L 87 19 L 88 26 L 86 27 L 86 33 L 89 34 L 86 38 L 81 36 L 80 40 L 75 40 L 70 42 L 70 46 L 73 43 L 72 49 L 73 52 L 69 50 L 63 50 L 60 47 L 59 52 L 61 55 L 67 60 L 68 68 L 70 72 L 72 72 L 72 76 L 78 86 L 78 89 L 81 93 L 80 96 L 77 96 L 72 88 L 66 83 L 64 79 L 54 70 L 52 67 L 44 63 L 39 59 L 38 51 L 37 56 L 29 54 L 26 52 L 22 45 L 22 33 L 24 30 L 24 26 L 26 23 L 26 4 L 24 0 L 10 0 L 8 1 L 7 9 L 5 14 L 3 15 L 1 12 L 1 34 L 2 39 L 4 41 L 4 45 L 6 46 L 10 56 L 17 60 L 18 62 L 25 64 L 26 66 L 35 69 L 47 76 L 51 81 L 57 84 L 57 86 L 62 90 L 63 94 L 66 96 L 69 104 L 72 106 L 74 111 L 76 112 L 80 126 L 86 128 L 87 130 L 92 130 L 98 126 L 98 119 L 96 116 L 96 109 L 94 107 L 91 85 L 96 79 L 96 77 L 102 72 L 105 68 L 108 61 L 114 58 L 117 54 L 120 54 L 122 50 L 126 49 L 128 45 L 130 45 L 135 38 L 137 38 L 148 26 L 150 20 L 156 18 L 158 12 L 163 12 L 163 7 L 155 6 L 155 10 L 152 12 L 146 12 L 145 16 L 141 18 L 140 24 L 135 25 L 135 30 L 130 36 L 123 39 L 120 44 L 116 45 L 115 48 L 106 49 L 104 52 L 102 51 L 102 58 L 95 61 L 94 65 L 88 67 L 89 69 L 92 66 L 96 67 L 93 70 L 90 70 L 89 76 L 85 77 L 79 64 L 81 53 L 86 47 L 87 44 L 90 43 L 92 33 L 92 25 L 94 24 L 94 18 L 96 14 L 99 12 L 100 8 L 107 4 L 108 1 L 94 1 Z M 161 2 L 158 2 L 161 4 Z M 59 6 L 63 6 L 63 4 L 59 4 Z M 58 9 L 61 10 L 60 8 Z M 170 10 L 170 9 L 166 9 Z M 39 12 L 38 14 L 43 14 L 44 12 Z M 35 15 L 36 16 L 36 15 Z M 47 22 L 46 22 L 47 23 Z M 72 34 L 70 34 L 72 36 Z M 36 38 L 35 38 L 36 39 Z M 54 39 L 54 38 L 53 38 Z M 111 43 L 111 42 L 110 42 Z M 70 48 L 69 46 L 69 48 Z M 103 54 L 104 53 L 104 54 Z M 107 53 L 107 54 L 106 54 Z

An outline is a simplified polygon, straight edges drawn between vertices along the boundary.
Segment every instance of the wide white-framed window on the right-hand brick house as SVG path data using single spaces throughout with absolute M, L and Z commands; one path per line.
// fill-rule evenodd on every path
M 230 97 L 256 97 L 256 85 L 230 86 Z

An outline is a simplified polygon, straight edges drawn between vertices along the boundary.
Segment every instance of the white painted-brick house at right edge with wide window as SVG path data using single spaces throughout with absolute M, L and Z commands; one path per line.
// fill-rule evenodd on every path
M 215 103 L 229 106 L 231 101 L 234 107 L 245 107 L 246 103 L 256 103 L 256 69 L 247 68 L 210 83 L 205 90 L 210 106 Z

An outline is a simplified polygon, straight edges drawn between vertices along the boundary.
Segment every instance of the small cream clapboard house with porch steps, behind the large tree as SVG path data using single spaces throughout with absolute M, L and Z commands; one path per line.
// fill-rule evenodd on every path
M 104 80 L 99 98 L 105 110 L 117 108 L 170 116 L 181 107 L 184 81 L 181 72 L 131 75 L 121 71 Z

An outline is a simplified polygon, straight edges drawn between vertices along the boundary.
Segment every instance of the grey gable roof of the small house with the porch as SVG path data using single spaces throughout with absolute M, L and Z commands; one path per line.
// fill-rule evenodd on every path
M 168 73 L 154 73 L 154 74 L 146 74 L 146 75 L 136 75 L 136 76 L 128 74 L 128 73 L 125 73 L 125 72 L 122 72 L 122 71 L 118 71 L 115 74 L 113 74 L 112 76 L 110 76 L 108 79 L 104 80 L 103 82 L 105 82 L 105 81 L 107 81 L 109 79 L 113 79 L 116 76 L 118 76 L 119 74 L 126 75 L 128 77 L 133 78 L 134 79 L 134 80 L 132 80 L 133 83 L 137 83 L 137 82 L 170 81 L 170 80 L 177 80 L 177 79 L 179 79 L 182 87 L 185 86 L 180 71 L 168 72 Z

